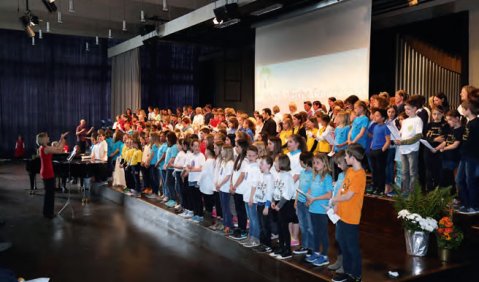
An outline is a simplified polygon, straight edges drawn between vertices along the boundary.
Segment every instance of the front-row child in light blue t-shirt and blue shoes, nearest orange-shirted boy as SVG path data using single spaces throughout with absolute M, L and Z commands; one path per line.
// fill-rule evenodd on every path
M 328 216 L 326 208 L 333 194 L 333 178 L 329 174 L 329 160 L 326 154 L 316 154 L 313 158 L 313 182 L 307 205 L 313 224 L 314 253 L 306 258 L 307 262 L 315 266 L 329 264 L 328 249 Z

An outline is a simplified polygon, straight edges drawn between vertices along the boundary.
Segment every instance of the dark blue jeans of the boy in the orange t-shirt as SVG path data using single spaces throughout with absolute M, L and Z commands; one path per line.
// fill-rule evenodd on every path
M 336 223 L 336 240 L 343 253 L 343 268 L 346 274 L 361 277 L 361 250 L 359 249 L 359 225 Z

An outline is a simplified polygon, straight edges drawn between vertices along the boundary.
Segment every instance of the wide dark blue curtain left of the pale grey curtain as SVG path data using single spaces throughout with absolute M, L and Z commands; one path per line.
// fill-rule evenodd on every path
M 90 51 L 85 43 L 90 42 Z M 84 118 L 99 127 L 110 113 L 110 63 L 107 41 L 45 34 L 31 39 L 22 31 L 0 30 L 0 155 L 13 154 L 15 140 L 23 135 L 28 154 L 35 135 L 47 131 L 58 139 Z

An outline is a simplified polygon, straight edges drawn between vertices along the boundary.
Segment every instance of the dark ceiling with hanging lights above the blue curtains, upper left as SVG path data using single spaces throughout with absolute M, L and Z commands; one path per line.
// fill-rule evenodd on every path
M 206 4 L 211 0 L 167 0 L 167 11 L 163 10 L 163 0 L 73 0 L 74 12 L 69 12 L 70 0 L 55 0 L 62 13 L 62 22 L 57 22 L 57 13 L 48 13 L 42 0 L 29 0 L 32 13 L 41 20 L 40 27 L 45 31 L 46 22 L 50 22 L 50 30 L 56 34 L 107 37 L 108 29 L 112 29 L 114 38 L 127 39 L 138 35 L 140 27 L 140 11 L 145 17 L 156 16 L 159 21 L 148 20 L 148 24 L 167 22 Z M 19 17 L 26 10 L 26 0 L 0 1 L 0 28 L 22 30 Z M 127 31 L 122 31 L 122 21 L 126 19 Z

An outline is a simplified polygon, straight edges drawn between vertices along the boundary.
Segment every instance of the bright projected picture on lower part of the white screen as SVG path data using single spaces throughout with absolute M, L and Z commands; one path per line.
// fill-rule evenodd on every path
M 328 97 L 344 100 L 349 95 L 368 97 L 369 50 L 367 48 L 256 66 L 255 108 L 278 105 L 288 112 L 291 101 L 302 109 L 303 101 Z

